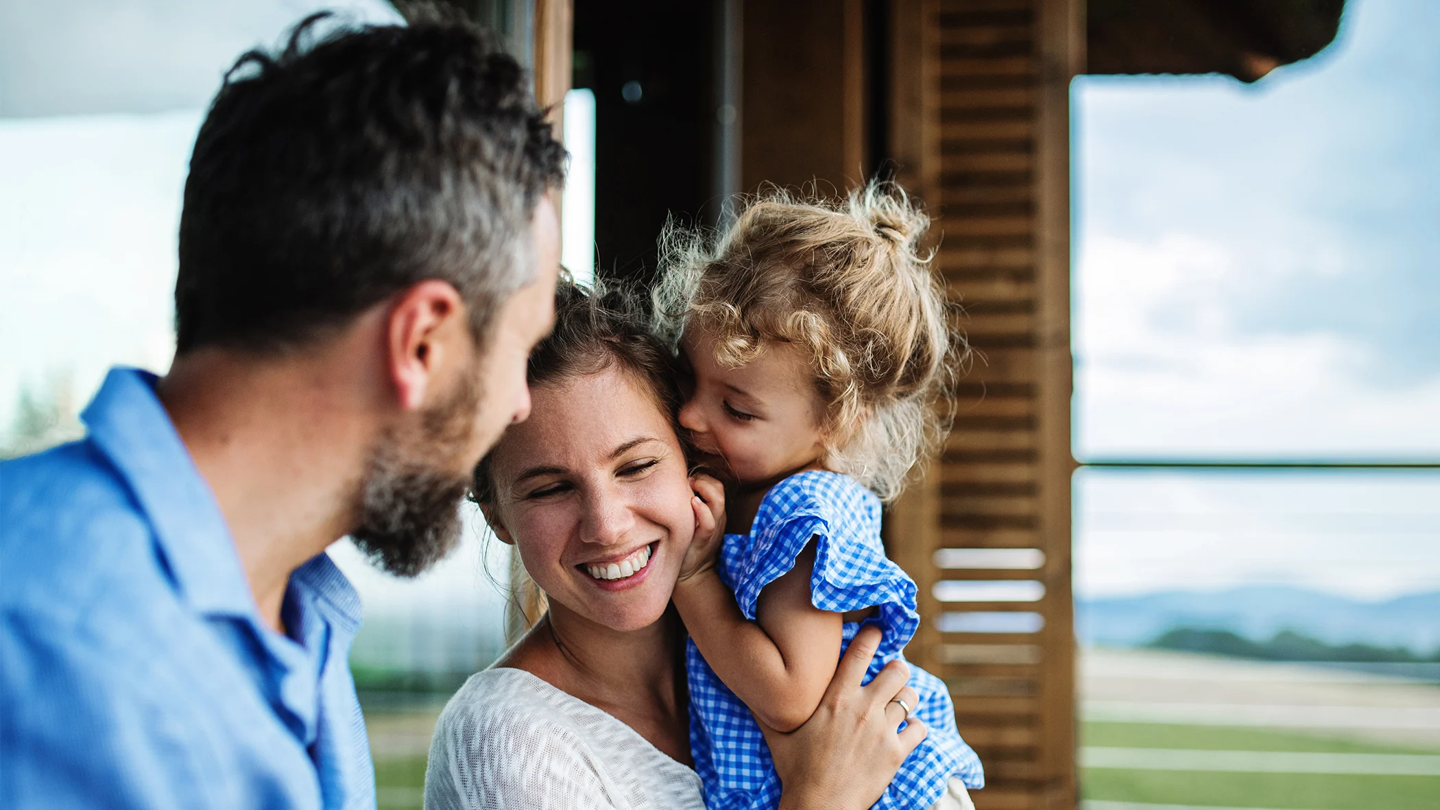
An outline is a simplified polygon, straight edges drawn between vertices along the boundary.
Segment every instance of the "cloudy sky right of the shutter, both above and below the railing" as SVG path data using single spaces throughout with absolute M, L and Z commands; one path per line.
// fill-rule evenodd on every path
M 1074 451 L 1440 461 L 1440 4 L 1257 85 L 1073 86 Z M 1076 589 L 1440 589 L 1440 473 L 1076 486 Z

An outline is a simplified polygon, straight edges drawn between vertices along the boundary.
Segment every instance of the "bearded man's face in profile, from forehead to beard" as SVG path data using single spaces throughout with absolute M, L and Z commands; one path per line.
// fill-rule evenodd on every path
M 501 306 L 478 362 L 455 375 L 449 395 L 387 431 L 372 451 L 351 538 L 390 574 L 413 577 L 454 548 L 475 464 L 508 425 L 530 415 L 526 362 L 554 324 L 560 270 L 560 223 L 547 197 L 530 233 L 534 281 Z

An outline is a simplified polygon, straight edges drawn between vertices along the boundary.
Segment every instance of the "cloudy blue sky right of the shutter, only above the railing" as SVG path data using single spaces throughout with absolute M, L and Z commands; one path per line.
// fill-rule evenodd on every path
M 1254 86 L 1084 76 L 1076 450 L 1440 458 L 1440 4 Z

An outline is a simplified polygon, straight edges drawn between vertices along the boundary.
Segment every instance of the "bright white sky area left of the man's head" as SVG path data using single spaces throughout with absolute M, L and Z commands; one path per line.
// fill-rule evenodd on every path
M 202 112 L 0 121 L 0 430 L 22 385 L 166 370 L 176 239 Z

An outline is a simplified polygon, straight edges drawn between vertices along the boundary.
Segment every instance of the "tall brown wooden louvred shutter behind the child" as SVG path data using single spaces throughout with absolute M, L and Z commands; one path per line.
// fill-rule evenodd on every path
M 936 216 L 937 270 L 975 357 L 943 457 L 891 510 L 890 543 L 920 585 L 924 624 L 907 656 L 949 683 L 985 762 L 979 810 L 1076 806 L 1068 84 L 1080 4 L 909 0 L 894 12 L 899 177 Z

